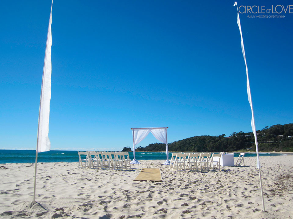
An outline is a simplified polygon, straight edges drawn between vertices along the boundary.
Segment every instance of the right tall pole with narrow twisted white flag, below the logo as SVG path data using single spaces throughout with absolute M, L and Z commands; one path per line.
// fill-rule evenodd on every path
M 252 99 L 251 99 L 251 92 L 250 92 L 250 85 L 249 85 L 249 78 L 248 78 L 248 68 L 247 68 L 247 63 L 246 63 L 246 57 L 245 57 L 245 51 L 244 51 L 244 43 L 243 43 L 243 37 L 242 37 L 242 30 L 241 30 L 241 25 L 240 25 L 240 18 L 239 18 L 239 10 L 238 10 L 238 5 L 237 2 L 234 3 L 233 6 L 237 6 L 237 24 L 239 27 L 240 31 L 240 36 L 241 36 L 241 49 L 242 49 L 242 54 L 245 62 L 245 68 L 246 68 L 246 87 L 247 87 L 247 95 L 248 95 L 248 101 L 250 104 L 251 108 L 251 128 L 254 134 L 254 141 L 255 141 L 255 149 L 256 149 L 256 167 L 259 169 L 259 182 L 260 182 L 260 191 L 262 194 L 262 210 L 265 211 L 265 203 L 263 200 L 263 192 L 262 192 L 262 176 L 260 172 L 260 162 L 259 162 L 259 147 L 257 143 L 257 136 L 256 136 L 256 129 L 255 129 L 255 120 L 254 120 L 254 113 L 253 113 L 253 107 L 252 107 Z

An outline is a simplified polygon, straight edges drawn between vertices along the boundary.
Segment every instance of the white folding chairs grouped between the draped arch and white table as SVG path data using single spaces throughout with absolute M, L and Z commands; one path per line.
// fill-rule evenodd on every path
M 220 154 L 211 153 L 172 153 L 171 165 L 172 171 L 176 167 L 176 171 L 193 171 L 193 170 L 209 170 L 219 169 L 220 160 L 214 159 L 215 157 L 221 157 Z

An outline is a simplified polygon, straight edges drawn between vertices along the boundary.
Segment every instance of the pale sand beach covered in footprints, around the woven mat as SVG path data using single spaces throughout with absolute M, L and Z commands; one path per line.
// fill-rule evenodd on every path
M 265 207 L 255 157 L 245 167 L 172 172 L 163 160 L 131 171 L 79 169 L 78 163 L 38 163 L 0 169 L 1 218 L 292 218 L 293 156 L 261 157 Z M 141 168 L 160 168 L 162 182 L 133 181 Z

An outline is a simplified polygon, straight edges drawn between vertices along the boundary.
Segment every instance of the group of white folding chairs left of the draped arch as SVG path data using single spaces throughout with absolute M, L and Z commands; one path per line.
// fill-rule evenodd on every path
M 81 156 L 85 156 L 82 158 Z M 78 151 L 78 168 L 101 168 L 114 170 L 131 169 L 128 152 Z

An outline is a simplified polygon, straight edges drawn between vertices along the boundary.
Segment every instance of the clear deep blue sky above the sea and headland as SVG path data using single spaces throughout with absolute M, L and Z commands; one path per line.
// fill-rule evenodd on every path
M 251 132 L 233 4 L 54 0 L 51 150 L 132 147 L 132 127 L 169 127 L 168 142 Z M 0 149 L 36 148 L 50 9 L 50 0 L 1 1 Z M 256 129 L 292 123 L 293 5 L 240 19 Z M 137 147 L 155 142 L 149 134 Z

